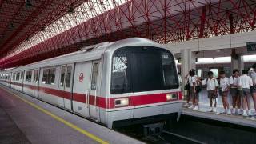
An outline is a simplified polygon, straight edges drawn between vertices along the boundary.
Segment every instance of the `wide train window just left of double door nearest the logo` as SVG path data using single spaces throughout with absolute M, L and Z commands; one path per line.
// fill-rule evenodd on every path
M 55 68 L 45 69 L 42 73 L 42 83 L 48 85 L 55 84 Z

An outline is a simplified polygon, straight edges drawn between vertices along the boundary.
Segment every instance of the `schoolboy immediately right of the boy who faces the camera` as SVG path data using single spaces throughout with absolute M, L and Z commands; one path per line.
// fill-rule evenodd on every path
M 229 86 L 230 86 L 230 80 L 229 78 L 226 78 L 225 71 L 220 71 L 219 72 L 220 76 L 220 86 L 219 86 L 219 92 L 218 94 L 222 97 L 222 103 L 224 107 L 224 114 L 231 114 L 229 102 L 227 100 L 227 95 L 229 93 Z

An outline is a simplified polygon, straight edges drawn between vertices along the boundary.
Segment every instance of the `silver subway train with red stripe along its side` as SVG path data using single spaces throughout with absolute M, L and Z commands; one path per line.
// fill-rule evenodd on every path
M 0 72 L 1 83 L 112 129 L 178 119 L 182 92 L 174 55 L 127 38 Z

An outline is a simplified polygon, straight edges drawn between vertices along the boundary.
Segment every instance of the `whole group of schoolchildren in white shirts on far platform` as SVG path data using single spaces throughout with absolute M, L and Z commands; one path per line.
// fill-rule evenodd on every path
M 201 80 L 195 74 L 195 70 L 189 71 L 186 75 L 186 85 L 184 89 L 187 90 L 186 104 L 192 110 L 199 110 L 198 100 L 199 93 L 202 92 L 202 86 L 206 86 L 207 96 L 209 98 L 209 112 L 217 113 L 217 100 L 222 98 L 224 111 L 222 114 L 239 114 L 244 117 L 254 115 L 250 107 L 250 97 L 254 101 L 254 109 L 256 110 L 256 63 L 251 70 L 233 70 L 230 78 L 226 77 L 225 71 L 219 72 L 219 78 L 214 78 L 212 71 L 208 72 L 208 77 Z M 228 97 L 232 98 L 232 103 L 228 102 Z M 192 104 L 190 105 L 190 101 Z

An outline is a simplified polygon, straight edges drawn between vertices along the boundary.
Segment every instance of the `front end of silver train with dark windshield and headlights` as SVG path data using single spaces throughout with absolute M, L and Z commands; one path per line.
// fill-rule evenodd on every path
M 111 58 L 108 127 L 177 118 L 182 93 L 169 50 L 129 46 L 115 50 Z

